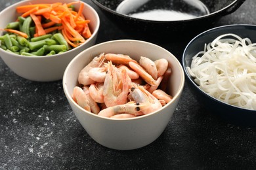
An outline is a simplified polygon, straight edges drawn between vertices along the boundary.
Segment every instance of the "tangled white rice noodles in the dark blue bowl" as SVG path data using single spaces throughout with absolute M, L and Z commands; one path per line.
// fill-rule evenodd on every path
M 224 38 L 226 37 L 226 38 Z M 186 67 L 199 87 L 212 97 L 256 110 L 256 43 L 224 34 L 193 58 Z

